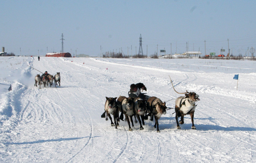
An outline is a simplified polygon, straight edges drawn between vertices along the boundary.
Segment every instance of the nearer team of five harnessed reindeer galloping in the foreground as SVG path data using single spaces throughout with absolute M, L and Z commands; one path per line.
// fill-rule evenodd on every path
M 171 83 L 172 79 L 170 78 Z M 172 83 L 173 86 L 173 83 Z M 174 89 L 174 86 L 173 86 Z M 174 89 L 175 92 L 177 92 Z M 192 129 L 196 129 L 194 125 L 194 112 L 196 109 L 196 102 L 200 101 L 199 95 L 196 94 L 195 92 L 184 92 L 184 93 L 179 93 L 178 94 L 185 94 L 185 96 L 180 96 L 176 99 L 175 101 L 175 119 L 177 123 L 177 129 L 180 128 L 180 124 L 184 124 L 184 116 L 189 114 L 191 116 L 191 121 L 192 121 Z M 117 99 L 117 100 L 116 100 Z M 130 121 L 133 125 L 133 116 L 135 117 L 135 123 L 136 123 L 136 117 L 139 120 L 140 123 L 140 130 L 143 130 L 143 125 L 145 125 L 144 120 L 147 120 L 148 115 L 153 115 L 155 118 L 155 125 L 154 128 L 157 128 L 157 132 L 160 132 L 159 130 L 159 124 L 158 120 L 161 117 L 161 115 L 166 114 L 166 103 L 162 102 L 161 99 L 153 96 L 148 98 L 147 100 L 143 100 L 141 98 L 127 98 L 125 96 L 119 96 L 118 98 L 112 98 L 112 97 L 106 97 L 106 102 L 105 102 L 105 112 L 101 115 L 102 118 L 106 118 L 105 113 L 108 115 L 109 119 L 111 120 L 111 126 L 115 126 L 117 129 L 117 126 L 119 126 L 118 122 L 120 119 L 122 120 L 123 116 L 125 115 L 125 120 L 128 123 L 129 126 L 129 131 L 132 131 L 133 129 L 131 128 Z M 173 108 L 174 109 L 174 108 Z M 120 118 L 119 118 L 119 112 L 121 112 Z M 148 113 L 148 114 L 147 114 Z M 111 115 L 114 117 L 114 123 L 112 121 Z M 108 120 L 108 117 L 106 120 Z M 121 118 L 122 117 L 122 118 Z M 178 117 L 181 117 L 181 120 L 178 121 Z M 152 119 L 153 120 L 153 119 Z

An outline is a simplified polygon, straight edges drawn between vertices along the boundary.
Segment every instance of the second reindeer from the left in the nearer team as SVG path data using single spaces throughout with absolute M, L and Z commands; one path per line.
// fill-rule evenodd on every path
M 128 126 L 129 126 L 129 131 L 132 131 L 132 128 L 130 126 L 130 121 L 129 121 L 129 117 L 131 119 L 132 122 L 132 126 L 133 125 L 133 120 L 132 120 L 132 116 L 135 115 L 135 111 L 134 111 L 134 107 L 133 107 L 133 97 L 125 97 L 125 96 L 119 96 L 117 101 L 118 101 L 118 105 L 120 106 L 120 110 L 123 111 L 125 118 L 127 120 Z M 121 105 L 120 105 L 121 103 Z M 121 111 L 121 112 L 122 112 Z

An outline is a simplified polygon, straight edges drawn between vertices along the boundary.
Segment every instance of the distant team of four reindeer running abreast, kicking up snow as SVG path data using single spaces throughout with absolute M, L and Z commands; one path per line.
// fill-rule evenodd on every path
M 47 74 L 47 75 L 44 75 L 41 77 L 39 74 L 37 74 L 35 76 L 35 85 L 34 86 L 37 87 L 37 83 L 38 83 L 39 89 L 41 89 L 41 84 L 44 84 L 44 87 L 45 87 L 45 86 L 48 86 L 48 83 L 50 83 L 50 87 L 52 87 L 53 80 L 54 80 L 55 88 L 57 88 L 56 84 L 58 85 L 58 83 L 60 86 L 60 72 L 57 72 L 57 74 L 54 76 Z

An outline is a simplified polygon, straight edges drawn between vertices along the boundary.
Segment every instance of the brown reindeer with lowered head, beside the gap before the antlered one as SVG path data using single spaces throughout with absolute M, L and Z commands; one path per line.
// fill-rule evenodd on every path
M 158 120 L 162 114 L 166 114 L 167 107 L 165 106 L 165 102 L 162 102 L 161 99 L 157 97 L 150 97 L 147 100 L 147 110 L 150 111 L 149 114 L 153 114 L 155 117 L 155 125 L 154 128 L 157 128 L 157 132 L 160 132 L 158 128 Z M 156 127 L 157 126 L 157 127 Z

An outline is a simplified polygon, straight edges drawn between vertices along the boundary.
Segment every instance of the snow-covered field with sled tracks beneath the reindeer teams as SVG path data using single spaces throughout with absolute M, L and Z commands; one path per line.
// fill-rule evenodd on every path
M 83 64 L 84 63 L 84 64 Z M 60 72 L 61 86 L 34 87 Z M 256 162 L 256 61 L 0 57 L 0 162 Z M 239 74 L 238 88 L 234 75 Z M 174 109 L 133 131 L 101 118 L 105 96 L 128 96 L 132 83 L 174 107 L 186 90 L 200 95 L 177 129 Z M 12 91 L 8 88 L 12 86 Z

